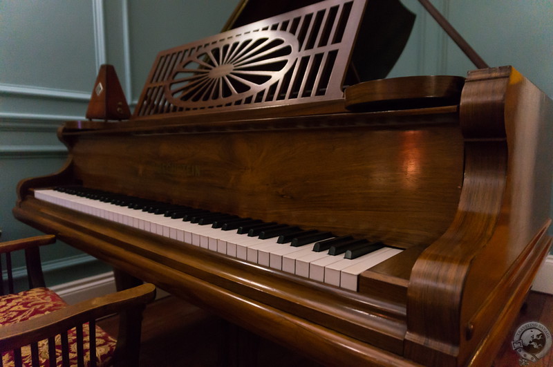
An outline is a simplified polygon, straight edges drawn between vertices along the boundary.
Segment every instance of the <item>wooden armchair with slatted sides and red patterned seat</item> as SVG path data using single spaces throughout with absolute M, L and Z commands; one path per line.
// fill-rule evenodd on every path
M 67 305 L 45 287 L 41 270 L 39 247 L 54 242 L 52 235 L 0 242 L 6 265 L 0 268 L 0 367 L 138 366 L 142 310 L 156 288 L 144 284 Z M 30 288 L 19 293 L 14 292 L 11 256 L 17 250 L 25 252 Z M 96 319 L 115 313 L 120 314 L 117 341 L 95 325 Z

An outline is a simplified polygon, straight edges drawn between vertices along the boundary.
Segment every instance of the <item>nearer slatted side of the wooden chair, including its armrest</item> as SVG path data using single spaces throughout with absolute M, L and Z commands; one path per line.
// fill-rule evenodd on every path
M 95 366 L 97 361 L 90 356 L 100 355 L 97 347 L 102 347 L 102 352 L 112 349 L 111 363 L 115 366 L 138 366 L 142 310 L 155 294 L 156 288 L 147 283 L 0 326 L 0 353 L 10 353 L 15 366 L 24 362 L 41 366 L 46 361 L 50 361 L 50 366 L 57 366 L 59 362 L 62 366 Z M 124 326 L 132 325 L 133 335 L 118 337 L 115 345 L 114 339 L 97 328 L 95 320 L 121 312 L 125 314 Z

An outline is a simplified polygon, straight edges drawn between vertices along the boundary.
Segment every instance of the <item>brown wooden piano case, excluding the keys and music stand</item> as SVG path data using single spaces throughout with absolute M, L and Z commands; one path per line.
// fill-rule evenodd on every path
M 469 75 L 460 107 L 214 113 L 205 131 L 194 116 L 194 129 L 187 120 L 73 125 L 59 132 L 71 152 L 66 167 L 21 182 L 14 214 L 321 363 L 485 364 L 551 244 L 548 200 L 534 199 L 549 195 L 538 177 L 552 160 L 536 152 L 552 141 L 550 113 L 550 100 L 507 67 Z M 407 250 L 364 272 L 354 293 L 32 197 L 32 188 L 61 184 Z

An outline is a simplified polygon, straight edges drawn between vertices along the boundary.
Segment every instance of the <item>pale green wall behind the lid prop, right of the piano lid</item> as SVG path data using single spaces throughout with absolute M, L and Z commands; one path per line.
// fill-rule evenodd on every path
M 420 3 L 402 0 L 418 15 L 414 33 L 391 76 L 466 75 L 474 69 L 456 44 L 425 14 Z M 553 1 L 433 0 L 432 3 L 489 66 L 512 65 L 553 97 Z

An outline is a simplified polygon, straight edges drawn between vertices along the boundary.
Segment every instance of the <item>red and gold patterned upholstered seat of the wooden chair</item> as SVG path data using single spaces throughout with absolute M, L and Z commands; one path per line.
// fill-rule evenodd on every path
M 52 290 L 48 288 L 33 288 L 18 294 L 7 294 L 0 296 L 0 333 L 1 326 L 10 323 L 17 323 L 40 317 L 55 310 L 66 307 L 66 303 Z M 88 365 L 90 352 L 88 351 L 88 324 L 83 327 L 85 364 Z M 69 357 L 71 366 L 77 364 L 77 344 L 76 329 L 68 331 Z M 96 360 L 98 366 L 109 366 L 115 350 L 115 339 L 110 337 L 104 330 L 96 326 Z M 56 337 L 57 364 L 61 364 L 62 345 L 61 337 Z M 31 366 L 30 347 L 24 347 L 21 350 L 24 366 Z M 39 359 L 41 366 L 50 366 L 48 364 L 48 343 L 46 340 L 39 341 Z M 12 352 L 2 353 L 2 365 L 14 366 Z

